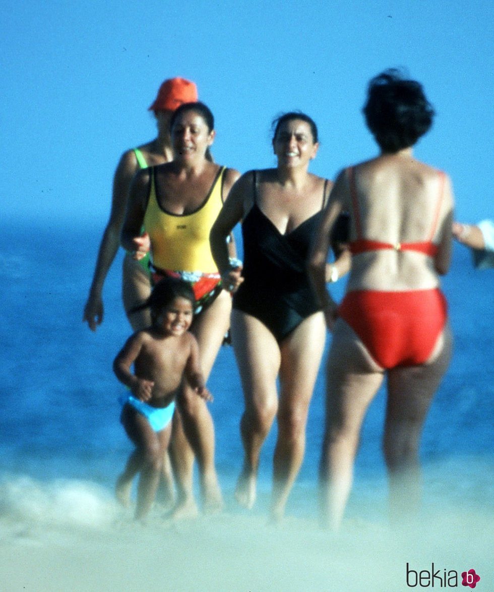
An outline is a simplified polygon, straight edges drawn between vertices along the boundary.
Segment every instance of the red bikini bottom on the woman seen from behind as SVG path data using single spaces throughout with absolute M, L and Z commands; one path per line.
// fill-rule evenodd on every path
M 357 333 L 382 368 L 426 362 L 447 319 L 440 289 L 409 292 L 356 290 L 346 294 L 338 314 Z

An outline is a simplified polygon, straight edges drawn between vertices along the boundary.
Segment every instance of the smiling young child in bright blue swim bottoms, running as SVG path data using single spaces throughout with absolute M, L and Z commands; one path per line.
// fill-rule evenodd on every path
M 117 378 L 132 392 L 122 401 L 121 422 L 135 444 L 116 493 L 128 506 L 133 478 L 140 472 L 137 520 L 144 520 L 153 505 L 182 381 L 188 381 L 199 397 L 212 401 L 199 364 L 198 343 L 188 332 L 194 305 L 190 284 L 175 278 L 160 281 L 143 305 L 151 310 L 151 327 L 134 333 L 113 363 Z

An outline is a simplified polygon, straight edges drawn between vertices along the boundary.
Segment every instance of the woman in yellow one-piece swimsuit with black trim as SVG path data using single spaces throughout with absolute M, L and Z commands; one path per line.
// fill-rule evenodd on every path
M 180 276 L 191 283 L 202 307 L 196 310 L 191 331 L 198 340 L 207 379 L 230 325 L 231 311 L 230 294 L 221 287 L 211 255 L 209 231 L 240 173 L 208 160 L 215 130 L 206 105 L 192 102 L 179 107 L 170 120 L 170 134 L 173 162 L 141 170 L 134 178 L 122 246 L 133 252 L 135 260 L 151 252 L 151 268 L 157 277 Z M 214 510 L 221 504 L 221 494 L 211 415 L 204 401 L 188 388 L 177 397 L 177 408 L 198 459 L 204 507 Z M 179 473 L 183 470 L 188 467 L 177 466 Z M 192 488 L 179 491 L 175 516 L 196 511 Z

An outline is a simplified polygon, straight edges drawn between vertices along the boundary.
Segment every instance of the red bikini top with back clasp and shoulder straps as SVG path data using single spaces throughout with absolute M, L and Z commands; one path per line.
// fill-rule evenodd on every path
M 355 185 L 355 175 L 353 166 L 347 169 L 348 180 L 350 181 L 350 192 L 351 201 L 353 204 L 353 214 L 355 219 L 355 228 L 357 231 L 357 239 L 350 243 L 350 252 L 352 255 L 359 255 L 359 253 L 366 253 L 367 251 L 374 251 L 380 249 L 395 249 L 396 251 L 417 251 L 424 253 L 429 257 L 434 257 L 437 254 L 438 246 L 432 242 L 432 237 L 435 234 L 437 223 L 439 219 L 439 213 L 441 210 L 441 202 L 443 201 L 444 192 L 444 179 L 445 175 L 442 170 L 438 171 L 440 175 L 440 191 L 437 200 L 437 205 L 434 213 L 434 221 L 432 222 L 432 228 L 428 240 L 423 240 L 415 243 L 383 243 L 379 240 L 364 239 L 362 237 L 362 229 L 360 223 L 360 210 L 359 201 L 357 200 L 357 188 Z

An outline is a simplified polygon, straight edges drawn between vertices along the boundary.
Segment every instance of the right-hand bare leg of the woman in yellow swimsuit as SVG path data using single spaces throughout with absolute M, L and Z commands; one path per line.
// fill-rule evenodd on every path
M 230 294 L 222 291 L 192 324 L 192 333 L 195 334 L 199 343 L 201 368 L 206 379 L 209 377 L 223 337 L 230 326 L 230 311 Z M 215 438 L 211 414 L 204 399 L 198 397 L 188 386 L 180 393 L 178 403 L 183 430 L 198 460 L 204 507 L 209 511 L 218 510 L 222 506 L 222 500 L 214 464 Z M 180 451 L 183 444 L 182 442 L 177 446 L 175 442 L 174 449 Z M 189 471 L 187 458 L 185 455 L 180 456 L 180 453 L 176 457 L 177 464 L 182 464 L 180 470 L 183 474 Z M 192 466 L 190 471 L 192 472 Z M 180 506 L 182 504 L 179 502 L 176 513 L 181 512 Z

